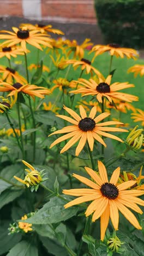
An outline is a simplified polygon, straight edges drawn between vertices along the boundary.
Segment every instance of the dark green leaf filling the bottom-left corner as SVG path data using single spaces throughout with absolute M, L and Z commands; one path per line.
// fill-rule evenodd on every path
M 0 255 L 6 253 L 15 246 L 21 240 L 21 234 L 11 234 L 8 235 L 10 220 L 2 220 L 2 225 L 0 226 Z

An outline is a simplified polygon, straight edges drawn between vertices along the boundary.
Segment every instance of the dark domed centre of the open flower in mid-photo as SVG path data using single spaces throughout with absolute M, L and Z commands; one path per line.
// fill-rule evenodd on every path
M 92 118 L 83 118 L 79 121 L 79 128 L 82 131 L 92 131 L 95 127 L 95 121 Z

